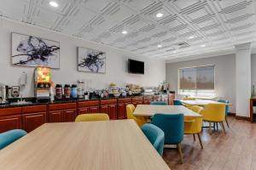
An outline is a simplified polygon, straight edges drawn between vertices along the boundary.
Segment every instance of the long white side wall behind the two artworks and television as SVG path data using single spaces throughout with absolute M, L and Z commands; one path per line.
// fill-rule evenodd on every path
M 52 70 L 52 79 L 55 83 L 74 83 L 78 79 L 84 79 L 88 88 L 100 89 L 108 88 L 109 82 L 117 82 L 119 86 L 125 86 L 128 82 L 143 86 L 156 86 L 166 79 L 166 64 L 163 60 L 143 58 L 142 56 L 123 52 L 117 48 L 86 42 L 35 26 L 0 20 L 0 82 L 16 85 L 19 82 L 20 73 L 26 71 L 28 84 L 21 92 L 23 96 L 33 96 L 32 73 L 34 68 L 10 64 L 12 31 L 61 42 L 61 69 Z M 95 48 L 106 52 L 106 74 L 77 71 L 77 47 Z M 128 58 L 145 61 L 145 75 L 128 74 Z

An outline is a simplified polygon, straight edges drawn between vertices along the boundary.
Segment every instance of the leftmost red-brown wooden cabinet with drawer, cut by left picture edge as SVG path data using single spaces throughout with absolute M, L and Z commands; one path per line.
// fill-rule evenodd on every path
M 21 127 L 21 107 L 0 109 L 0 133 Z

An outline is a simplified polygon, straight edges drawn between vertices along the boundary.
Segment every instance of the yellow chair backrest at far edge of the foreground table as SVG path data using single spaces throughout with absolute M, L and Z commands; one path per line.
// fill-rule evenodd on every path
M 108 121 L 109 116 L 105 113 L 82 114 L 76 117 L 75 122 Z

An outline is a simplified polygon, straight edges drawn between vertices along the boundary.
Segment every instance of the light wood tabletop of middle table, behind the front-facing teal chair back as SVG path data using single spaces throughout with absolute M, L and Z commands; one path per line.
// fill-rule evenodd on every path
M 177 114 L 182 113 L 185 117 L 201 117 L 200 114 L 189 110 L 183 105 L 137 105 L 134 116 L 154 116 L 155 113 Z

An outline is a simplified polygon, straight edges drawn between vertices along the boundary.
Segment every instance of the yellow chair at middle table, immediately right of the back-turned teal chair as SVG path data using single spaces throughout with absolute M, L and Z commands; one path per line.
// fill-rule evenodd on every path
M 190 108 L 190 110 L 201 114 L 201 111 L 203 110 L 203 108 L 198 105 L 194 105 Z M 201 136 L 200 136 L 201 127 L 202 127 L 202 117 L 196 117 L 196 118 L 186 117 L 184 120 L 184 134 L 193 134 L 194 141 L 195 141 L 195 134 L 197 134 L 199 142 L 201 144 L 201 149 L 203 149 Z

